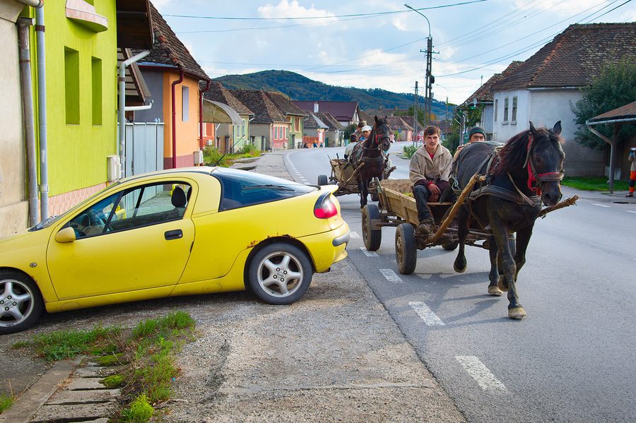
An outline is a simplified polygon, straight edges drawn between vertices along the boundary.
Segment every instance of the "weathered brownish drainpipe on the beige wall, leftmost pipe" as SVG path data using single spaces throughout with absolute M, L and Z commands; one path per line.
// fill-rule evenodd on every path
M 24 136 L 27 145 L 27 169 L 29 186 L 29 226 L 35 226 L 37 213 L 37 152 L 35 148 L 35 117 L 33 112 L 33 81 L 31 80 L 31 53 L 29 47 L 29 27 L 33 19 L 18 19 L 18 45 L 20 47 L 20 81 L 22 82 L 22 105 L 24 116 Z

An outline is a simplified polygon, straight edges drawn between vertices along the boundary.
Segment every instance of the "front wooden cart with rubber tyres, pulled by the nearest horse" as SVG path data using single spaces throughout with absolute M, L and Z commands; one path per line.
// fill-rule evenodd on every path
M 395 258 L 400 273 L 410 275 L 416 269 L 418 249 L 426 249 L 432 246 L 442 246 L 447 251 L 457 249 L 459 236 L 454 218 L 466 197 L 473 189 L 477 181 L 483 181 L 485 177 L 473 175 L 466 188 L 461 191 L 457 201 L 453 203 L 428 203 L 435 220 L 434 234 L 419 234 L 418 209 L 415 198 L 406 195 L 411 192 L 410 179 L 385 179 L 375 180 L 379 207 L 375 204 L 367 204 L 362 212 L 363 241 L 368 251 L 376 251 L 382 243 L 382 227 L 396 227 L 395 232 Z M 558 208 L 572 205 L 578 197 L 568 198 L 551 208 L 545 208 L 541 215 L 557 210 Z M 493 237 L 489 230 L 471 228 L 466 238 L 466 244 L 490 249 L 490 238 Z M 514 252 L 514 234 L 510 237 L 510 246 Z M 501 261 L 499 258 L 498 261 Z

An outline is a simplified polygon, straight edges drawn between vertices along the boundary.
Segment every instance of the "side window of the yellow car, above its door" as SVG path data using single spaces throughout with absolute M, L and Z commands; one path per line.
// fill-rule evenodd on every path
M 192 187 L 161 183 L 120 191 L 83 210 L 69 223 L 78 239 L 183 218 Z

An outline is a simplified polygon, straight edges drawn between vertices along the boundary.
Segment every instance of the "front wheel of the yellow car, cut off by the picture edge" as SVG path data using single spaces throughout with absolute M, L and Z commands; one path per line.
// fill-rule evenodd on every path
M 0 272 L 0 335 L 30 328 L 43 307 L 42 294 L 33 280 L 19 272 Z

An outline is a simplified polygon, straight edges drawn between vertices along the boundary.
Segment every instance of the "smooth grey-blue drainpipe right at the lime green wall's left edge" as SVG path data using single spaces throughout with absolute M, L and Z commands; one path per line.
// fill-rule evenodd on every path
M 49 161 L 47 142 L 47 66 L 44 3 L 35 9 L 37 41 L 37 120 L 40 131 L 40 219 L 49 217 Z

